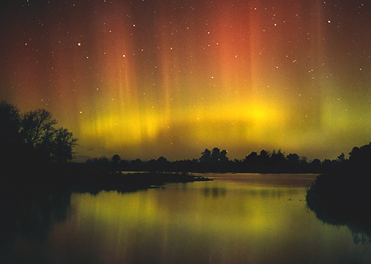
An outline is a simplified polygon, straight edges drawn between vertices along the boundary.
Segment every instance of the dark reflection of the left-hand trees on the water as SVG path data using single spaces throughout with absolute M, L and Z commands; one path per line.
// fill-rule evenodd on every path
M 70 202 L 70 193 L 1 193 L 0 262 L 28 263 L 27 254 L 23 254 L 45 242 L 55 223 L 68 219 Z M 37 263 L 41 258 L 33 259 Z

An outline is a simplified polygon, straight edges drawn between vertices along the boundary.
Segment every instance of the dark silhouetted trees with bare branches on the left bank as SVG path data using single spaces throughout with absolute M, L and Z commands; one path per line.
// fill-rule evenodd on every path
M 0 102 L 0 166 L 2 170 L 45 168 L 73 158 L 77 139 L 57 127 L 45 109 L 21 113 L 14 105 Z

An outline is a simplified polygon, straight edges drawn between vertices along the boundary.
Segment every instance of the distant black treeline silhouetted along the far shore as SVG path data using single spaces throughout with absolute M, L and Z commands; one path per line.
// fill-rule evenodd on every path
M 356 148 L 355 148 L 356 149 Z M 356 152 L 352 151 L 351 155 Z M 268 152 L 251 152 L 244 159 L 231 161 L 228 152 L 218 147 L 205 149 L 198 159 L 168 161 L 161 156 L 159 159 L 128 161 L 118 154 L 108 159 L 106 156 L 88 159 L 89 166 L 96 170 L 128 170 L 128 171 L 178 171 L 178 172 L 234 172 L 234 173 L 330 173 L 340 170 L 348 162 L 342 153 L 337 159 L 314 159 L 308 161 L 295 153 L 285 155 L 281 150 Z

